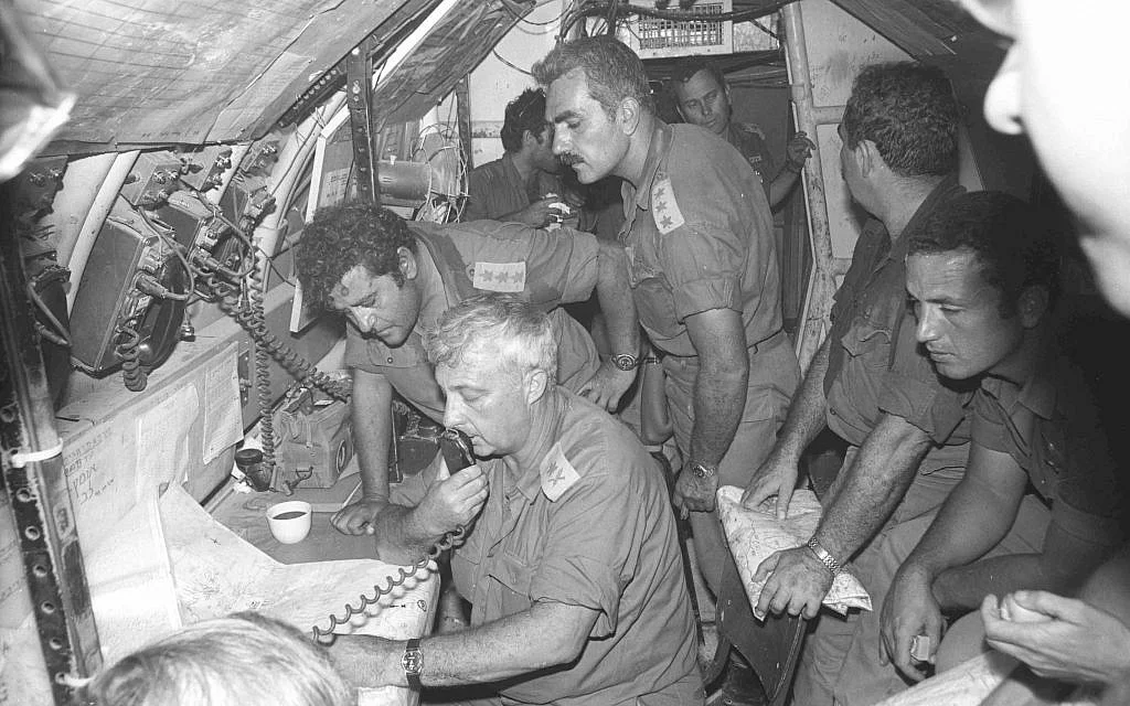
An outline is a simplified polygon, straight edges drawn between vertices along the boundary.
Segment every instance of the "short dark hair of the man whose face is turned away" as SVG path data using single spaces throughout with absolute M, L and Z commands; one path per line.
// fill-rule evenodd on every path
M 860 71 L 841 128 L 849 149 L 875 142 L 901 176 L 945 176 L 957 169 L 959 116 L 941 69 L 904 61 Z

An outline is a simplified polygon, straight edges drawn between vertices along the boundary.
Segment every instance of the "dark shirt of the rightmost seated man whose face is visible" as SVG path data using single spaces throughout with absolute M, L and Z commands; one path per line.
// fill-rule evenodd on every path
M 1049 349 L 1024 386 L 985 377 L 973 401 L 973 443 L 1007 453 L 1051 506 L 1052 522 L 1086 541 L 1122 540 L 1125 498 L 1089 386 Z

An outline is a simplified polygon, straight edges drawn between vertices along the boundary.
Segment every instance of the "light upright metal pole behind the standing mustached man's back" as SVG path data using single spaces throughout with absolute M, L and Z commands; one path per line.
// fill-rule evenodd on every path
M 781 9 L 784 23 L 785 61 L 789 69 L 789 86 L 797 128 L 807 132 L 816 142 L 816 127 L 827 122 L 827 115 L 812 103 L 812 79 L 808 68 L 808 49 L 805 43 L 805 26 L 801 21 L 800 2 Z M 818 142 L 817 142 L 818 145 Z M 824 330 L 832 310 L 835 294 L 835 259 L 832 255 L 832 233 L 828 226 L 828 204 L 824 192 L 824 166 L 820 150 L 812 150 L 812 157 L 805 164 L 806 212 L 808 215 L 809 245 L 812 249 L 812 272 L 808 293 L 801 312 L 801 326 L 797 335 L 797 357 L 802 369 L 820 347 Z

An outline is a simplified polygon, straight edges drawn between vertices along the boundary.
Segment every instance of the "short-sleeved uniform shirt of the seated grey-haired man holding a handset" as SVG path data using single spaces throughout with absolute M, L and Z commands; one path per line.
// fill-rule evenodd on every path
M 649 694 L 681 689 L 677 703 L 701 704 L 701 683 L 687 679 L 698 669 L 694 617 L 662 473 L 627 427 L 560 387 L 557 398 L 536 467 L 480 462 L 490 495 L 452 575 L 472 626 L 541 601 L 599 617 L 575 663 L 507 683 L 503 703 L 646 705 Z

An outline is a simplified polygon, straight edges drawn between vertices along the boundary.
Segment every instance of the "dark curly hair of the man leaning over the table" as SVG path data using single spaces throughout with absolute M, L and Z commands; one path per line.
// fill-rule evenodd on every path
M 415 253 L 416 238 L 389 209 L 364 201 L 320 208 L 295 246 L 303 293 L 312 304 L 325 306 L 334 285 L 358 264 L 374 277 L 391 274 L 397 285 L 403 285 L 400 247 Z

